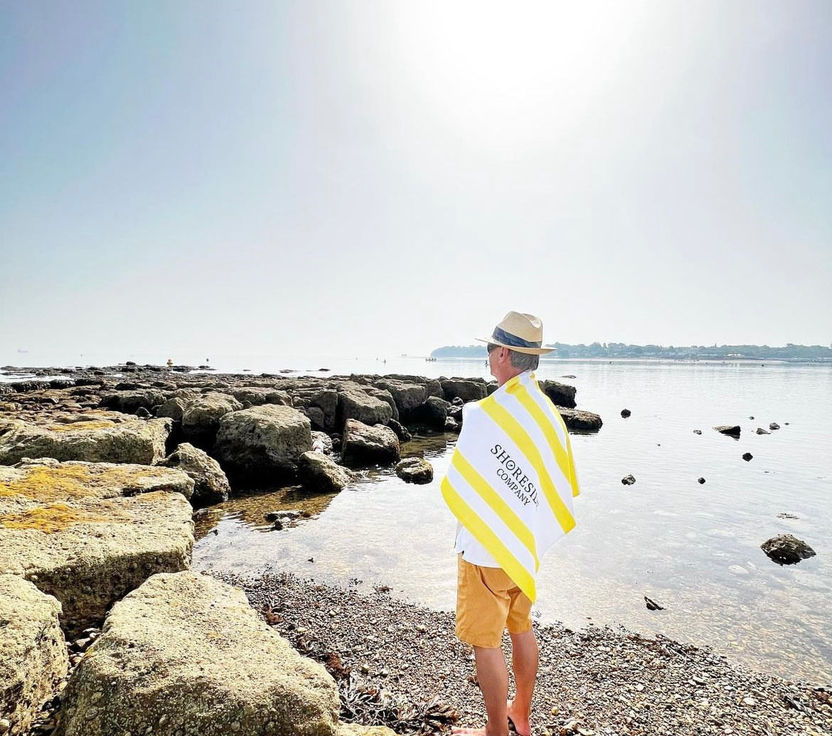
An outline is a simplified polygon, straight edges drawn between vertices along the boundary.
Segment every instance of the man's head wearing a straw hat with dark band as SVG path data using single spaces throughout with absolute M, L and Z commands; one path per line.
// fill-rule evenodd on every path
M 542 320 L 522 312 L 509 312 L 490 338 L 478 339 L 488 343 L 488 368 L 500 386 L 523 371 L 537 368 L 540 356 L 554 349 L 542 347 Z

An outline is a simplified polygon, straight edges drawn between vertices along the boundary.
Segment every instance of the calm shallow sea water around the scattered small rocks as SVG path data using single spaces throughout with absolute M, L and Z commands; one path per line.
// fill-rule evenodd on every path
M 479 361 L 414 368 L 485 371 Z M 599 412 L 605 425 L 572 440 L 582 484 L 578 526 L 543 561 L 542 619 L 572 627 L 619 623 L 711 645 L 791 679 L 832 681 L 832 368 L 558 362 L 538 371 L 542 378 L 564 373 L 576 376 L 567 383 L 578 388 L 578 406 Z M 632 411 L 626 420 L 624 407 Z M 755 434 L 769 422 L 782 428 Z M 711 428 L 726 423 L 742 426 L 740 440 Z M 279 491 L 203 512 L 201 531 L 211 531 L 197 542 L 194 565 L 290 570 L 341 584 L 357 578 L 452 609 L 455 523 L 438 481 L 454 439 L 404 446 L 404 456 L 433 462 L 436 479 L 428 486 L 405 484 L 386 468 L 364 473 L 337 496 Z M 745 462 L 744 452 L 753 460 Z M 628 473 L 636 477 L 631 487 L 621 483 Z M 269 531 L 262 515 L 280 507 L 314 518 Z M 780 519 L 781 512 L 799 518 Z M 760 544 L 781 532 L 805 539 L 817 556 L 796 566 L 771 562 Z M 647 610 L 644 595 L 666 610 Z

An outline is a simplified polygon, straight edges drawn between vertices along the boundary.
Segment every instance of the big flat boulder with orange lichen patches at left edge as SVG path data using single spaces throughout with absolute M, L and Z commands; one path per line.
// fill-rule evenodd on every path
M 74 635 L 150 575 L 185 570 L 194 482 L 164 467 L 57 462 L 0 467 L 0 574 L 61 601 Z

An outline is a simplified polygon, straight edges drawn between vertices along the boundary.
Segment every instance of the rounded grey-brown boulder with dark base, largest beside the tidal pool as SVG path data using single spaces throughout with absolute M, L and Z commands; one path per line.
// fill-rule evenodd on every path
M 222 417 L 213 454 L 233 481 L 254 485 L 294 475 L 298 458 L 311 449 L 310 420 L 302 412 L 265 404 Z

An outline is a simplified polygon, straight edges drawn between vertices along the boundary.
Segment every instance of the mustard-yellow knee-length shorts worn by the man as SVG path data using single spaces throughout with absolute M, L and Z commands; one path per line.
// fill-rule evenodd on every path
M 503 629 L 532 629 L 532 601 L 499 567 L 480 567 L 458 558 L 457 636 L 473 646 L 497 649 Z

